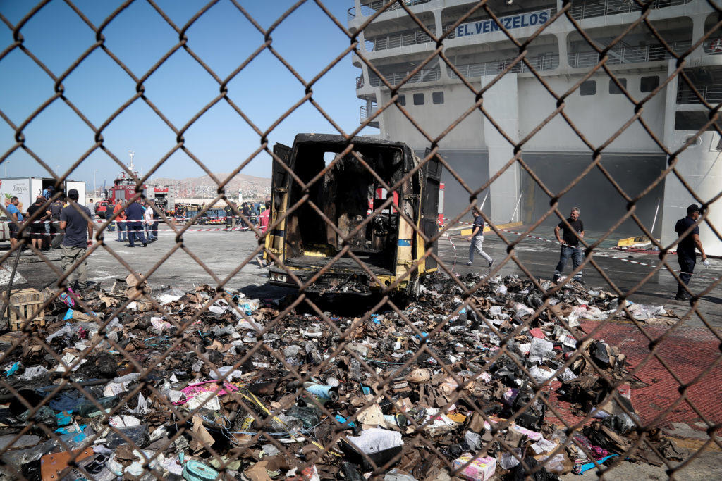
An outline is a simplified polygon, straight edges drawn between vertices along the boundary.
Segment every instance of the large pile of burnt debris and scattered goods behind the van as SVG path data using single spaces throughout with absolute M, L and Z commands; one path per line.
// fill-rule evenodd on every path
M 0 336 L 0 470 L 35 480 L 552 480 L 688 456 L 641 428 L 624 353 L 580 325 L 628 315 L 617 296 L 570 283 L 544 299 L 516 275 L 481 281 L 432 275 L 418 301 L 359 317 L 303 311 L 296 296 L 152 293 L 134 275 L 82 301 L 58 297 L 44 326 Z M 480 287 L 468 296 L 460 284 Z M 574 429 L 569 402 L 582 416 Z

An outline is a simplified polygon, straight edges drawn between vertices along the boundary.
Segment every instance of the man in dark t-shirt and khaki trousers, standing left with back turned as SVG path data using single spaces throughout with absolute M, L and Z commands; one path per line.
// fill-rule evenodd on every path
M 63 271 L 69 273 L 74 265 L 81 261 L 69 273 L 67 281 L 69 287 L 72 287 L 71 285 L 77 278 L 77 288 L 82 291 L 88 286 L 87 260 L 84 257 L 87 248 L 92 245 L 93 223 L 88 221 L 90 211 L 87 207 L 77 203 L 78 191 L 75 189 L 69 190 L 68 198 L 74 203 L 64 207 L 60 213 L 60 228 L 65 229 L 60 262 Z

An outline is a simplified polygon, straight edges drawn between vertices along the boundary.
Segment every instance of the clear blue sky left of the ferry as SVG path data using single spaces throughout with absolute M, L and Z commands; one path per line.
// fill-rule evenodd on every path
M 27 14 L 35 1 L 0 2 L 0 14 L 13 25 Z M 77 7 L 96 27 L 122 4 L 119 0 L 75 0 Z M 269 27 L 294 4 L 287 0 L 239 1 L 261 27 Z M 352 1 L 328 0 L 327 7 L 342 25 Z M 158 6 L 178 27 L 186 25 L 206 1 L 157 0 Z M 95 33 L 61 0 L 43 6 L 22 27 L 27 50 L 56 76 L 61 76 L 85 50 L 95 43 Z M 150 4 L 136 0 L 103 30 L 105 46 L 138 78 L 178 43 L 178 33 Z M 229 0 L 220 0 L 188 29 L 188 46 L 221 79 L 225 79 L 264 43 L 264 37 Z M 349 45 L 348 37 L 313 1 L 306 1 L 271 35 L 273 47 L 306 81 L 316 76 Z M 12 45 L 12 31 L 0 24 L 0 50 Z M 313 99 L 346 132 L 359 125 L 361 100 L 355 97 L 355 77 L 350 55 L 326 73 L 313 87 Z M 97 49 L 64 79 L 64 94 L 97 127 L 136 93 L 136 85 L 107 53 Z M 144 82 L 145 95 L 181 128 L 219 94 L 219 86 L 182 48 L 173 53 Z M 14 49 L 0 60 L 0 110 L 20 125 L 54 94 L 52 79 L 25 53 Z M 265 131 L 286 110 L 303 98 L 305 87 L 291 72 L 264 50 L 228 84 L 228 96 L 261 130 Z M 310 102 L 305 102 L 269 135 L 271 144 L 290 144 L 298 132 L 335 133 Z M 69 167 L 95 144 L 94 134 L 79 116 L 58 99 L 23 130 L 25 144 L 52 169 Z M 375 133 L 368 129 L 365 133 Z M 122 162 L 136 152 L 142 173 L 175 146 L 170 130 L 142 99 L 124 110 L 103 131 L 104 145 Z M 14 130 L 0 118 L 0 155 L 15 144 Z M 185 134 L 185 145 L 212 172 L 230 172 L 258 149 L 260 138 L 230 105 L 221 100 L 196 121 Z M 120 168 L 97 150 L 69 178 L 86 180 L 92 188 L 112 183 Z M 243 173 L 270 177 L 271 161 L 256 156 Z M 48 172 L 25 151 L 14 151 L 0 165 L 0 176 L 45 177 Z M 178 151 L 153 177 L 196 177 L 204 172 L 183 151 Z

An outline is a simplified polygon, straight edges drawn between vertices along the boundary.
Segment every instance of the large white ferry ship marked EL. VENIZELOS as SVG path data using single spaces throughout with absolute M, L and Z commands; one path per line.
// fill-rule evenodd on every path
M 380 0 L 354 0 L 348 11 L 352 32 L 385 5 Z M 406 0 L 406 6 L 434 35 L 449 30 L 459 18 L 477 6 L 469 0 Z M 519 40 L 530 37 L 540 25 L 562 9 L 561 0 L 492 0 L 492 12 Z M 700 38 L 715 28 L 718 14 L 706 0 L 655 0 L 648 19 L 674 52 L 686 53 Z M 630 0 L 574 0 L 571 16 L 601 48 L 625 32 L 640 17 L 640 6 Z M 393 86 L 406 78 L 435 50 L 436 44 L 398 4 L 375 17 L 359 34 L 360 50 Z M 518 47 L 501 32 L 483 8 L 477 9 L 443 41 L 445 56 L 475 88 L 488 84 L 518 55 Z M 722 101 L 722 31 L 713 32 L 686 57 L 684 72 L 713 107 Z M 647 97 L 674 73 L 674 58 L 648 27 L 642 23 L 627 32 L 609 50 L 606 65 L 639 101 Z M 526 53 L 534 69 L 557 94 L 573 87 L 599 62 L 599 54 L 566 17 L 560 17 L 529 45 Z M 391 98 L 391 89 L 369 69 L 359 56 L 353 64 L 361 69 L 356 79 L 357 97 L 365 100 L 360 121 L 367 120 Z M 438 56 L 398 89 L 403 105 L 430 138 L 437 138 L 474 104 L 474 94 Z M 484 109 L 514 140 L 526 137 L 554 109 L 557 101 L 533 73 L 517 63 L 486 94 Z M 565 99 L 564 112 L 595 147 L 603 145 L 635 114 L 635 105 L 611 77 L 599 69 Z M 641 118 L 670 151 L 679 149 L 709 120 L 710 110 L 692 93 L 684 80 L 674 78 L 643 106 Z M 722 122 L 719 122 L 722 125 Z M 395 105 L 384 110 L 370 124 L 383 138 L 404 141 L 423 151 L 431 141 Z M 513 148 L 489 120 L 474 110 L 438 142 L 440 151 L 472 190 L 495 175 L 513 157 Z M 708 128 L 692 146 L 679 155 L 677 170 L 705 202 L 722 190 L 722 141 Z M 593 159 L 586 146 L 565 120 L 557 115 L 535 133 L 522 151 L 525 162 L 552 193 L 565 189 Z M 630 198 L 651 185 L 666 168 L 667 156 L 640 122 L 635 121 L 607 145 L 601 165 Z M 445 210 L 458 213 L 469 204 L 469 194 L 445 172 Z M 479 195 L 481 203 L 485 193 Z M 551 198 L 532 178 L 514 164 L 490 187 L 484 211 L 495 223 L 539 219 Z M 672 242 L 674 223 L 686 215 L 695 198 L 674 175 L 668 175 L 637 203 L 635 213 L 661 237 Z M 560 210 L 567 213 L 579 206 L 590 230 L 604 231 L 627 212 L 627 200 L 593 169 L 561 198 Z M 722 229 L 722 200 L 710 207 L 709 221 Z M 557 221 L 555 217 L 549 221 Z M 623 235 L 620 235 L 623 234 Z M 616 238 L 641 232 L 627 219 Z M 613 237 L 614 238 L 614 237 Z M 709 226 L 700 228 L 708 254 L 722 255 L 722 242 Z

